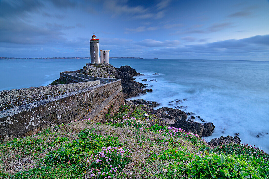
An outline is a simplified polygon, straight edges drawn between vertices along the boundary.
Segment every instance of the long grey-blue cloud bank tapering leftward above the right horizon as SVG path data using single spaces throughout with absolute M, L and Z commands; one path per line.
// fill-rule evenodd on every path
M 207 44 L 168 47 L 148 51 L 150 54 L 171 53 L 174 55 L 192 54 L 196 56 L 255 56 L 269 55 L 269 35 L 257 35 L 243 39 L 229 39 Z

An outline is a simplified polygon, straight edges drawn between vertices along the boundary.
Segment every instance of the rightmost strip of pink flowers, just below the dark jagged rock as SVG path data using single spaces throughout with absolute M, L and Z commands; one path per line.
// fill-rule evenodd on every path
M 166 128 L 160 129 L 160 132 L 168 135 L 171 138 L 172 137 L 184 137 L 184 138 L 199 137 L 197 134 L 193 134 L 181 128 L 175 128 L 175 127 L 166 127 Z

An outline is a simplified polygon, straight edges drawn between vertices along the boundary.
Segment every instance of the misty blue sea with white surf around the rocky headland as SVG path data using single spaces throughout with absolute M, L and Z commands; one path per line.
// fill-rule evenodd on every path
M 135 77 L 136 81 L 153 89 L 130 99 L 156 101 L 161 104 L 157 108 L 178 107 L 213 122 L 214 133 L 203 137 L 207 142 L 238 133 L 242 144 L 255 145 L 269 153 L 269 61 L 109 60 L 116 68 L 130 65 L 144 74 Z M 79 70 L 89 62 L 90 59 L 0 60 L 0 90 L 48 85 L 59 78 L 60 71 Z M 197 117 L 195 121 L 203 123 Z

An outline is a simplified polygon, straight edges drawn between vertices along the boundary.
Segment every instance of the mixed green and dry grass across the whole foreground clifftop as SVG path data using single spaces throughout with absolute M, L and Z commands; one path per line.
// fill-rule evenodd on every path
M 133 107 L 134 112 L 132 114 L 134 116 L 143 115 L 144 111 L 139 106 L 137 108 Z M 113 110 L 112 106 L 111 110 Z M 171 174 L 171 171 L 169 171 L 170 176 L 164 175 L 164 169 L 177 164 L 175 165 L 175 162 L 169 159 L 160 159 L 156 156 L 160 156 L 165 150 L 183 151 L 199 155 L 200 147 L 206 146 L 205 142 L 200 138 L 193 138 L 193 140 L 198 140 L 193 141 L 184 136 L 179 137 L 176 136 L 177 133 L 173 133 L 175 136 L 169 136 L 169 134 L 157 132 L 160 129 L 156 125 L 156 131 L 152 130 L 153 127 L 151 129 L 143 127 L 143 125 L 139 124 L 139 120 L 137 120 L 136 127 L 133 124 L 130 125 L 131 127 L 125 124 L 128 122 L 127 120 L 123 124 L 112 122 L 112 119 L 115 121 L 126 116 L 129 112 L 130 107 L 122 105 L 118 114 L 112 116 L 111 122 L 105 124 L 79 120 L 70 124 L 48 127 L 26 138 L 0 138 L 0 178 L 73 178 L 77 174 L 74 165 L 71 166 L 69 163 L 63 165 L 61 161 L 56 165 L 41 166 L 40 164 L 47 153 L 58 151 L 60 146 L 79 139 L 78 135 L 82 134 L 81 131 L 88 129 L 86 131 L 90 134 L 101 135 L 103 138 L 108 138 L 109 136 L 118 138 L 118 142 L 122 143 L 125 149 L 133 151 L 132 160 L 126 163 L 124 169 L 114 175 L 115 178 L 186 179 L 187 176 L 178 176 L 176 173 Z M 134 117 L 129 117 L 128 119 L 128 124 L 135 121 Z M 259 149 L 244 145 L 222 145 L 213 149 L 213 152 L 225 153 L 226 155 L 236 152 L 240 154 L 254 153 L 256 156 L 267 158 L 267 154 L 259 151 Z M 154 160 L 152 156 L 155 156 Z M 86 169 L 78 178 L 91 178 L 90 174 L 89 169 Z

